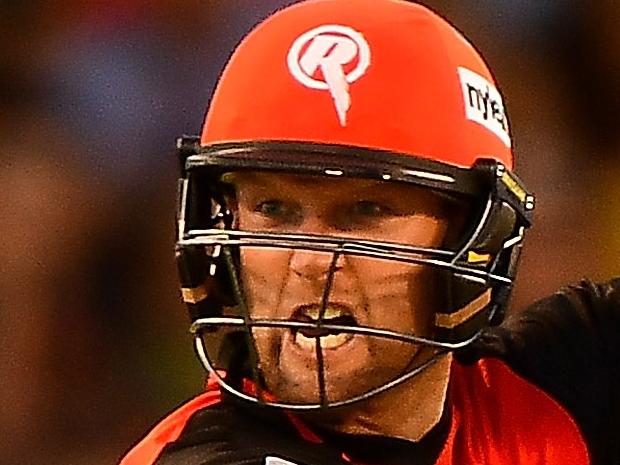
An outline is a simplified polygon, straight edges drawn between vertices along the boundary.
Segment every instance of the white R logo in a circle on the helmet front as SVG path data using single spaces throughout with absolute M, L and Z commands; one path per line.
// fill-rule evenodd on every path
M 329 90 L 342 126 L 347 124 L 351 106 L 349 84 L 358 80 L 369 64 L 368 42 L 347 26 L 312 29 L 299 36 L 288 52 L 288 67 L 295 79 L 311 89 Z

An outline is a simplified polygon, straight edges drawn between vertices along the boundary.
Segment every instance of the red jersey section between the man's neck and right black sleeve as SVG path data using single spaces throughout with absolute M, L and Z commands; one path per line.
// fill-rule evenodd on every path
M 453 431 L 442 457 L 447 453 L 450 463 L 590 463 L 570 413 L 500 359 L 455 363 L 450 399 Z

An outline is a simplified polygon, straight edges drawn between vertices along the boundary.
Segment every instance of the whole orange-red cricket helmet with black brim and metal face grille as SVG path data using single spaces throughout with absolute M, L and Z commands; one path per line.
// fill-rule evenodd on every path
M 275 13 L 238 46 L 201 136 L 180 139 L 178 150 L 183 299 L 198 355 L 227 391 L 294 409 L 347 405 L 410 379 L 501 321 L 534 198 L 511 172 L 508 121 L 488 67 L 426 7 L 399 0 L 309 0 Z M 226 182 L 237 171 L 413 184 L 465 199 L 471 218 L 460 240 L 439 249 L 239 230 Z M 314 322 L 258 319 L 244 295 L 244 247 L 318 250 L 332 254 L 332 264 L 350 255 L 429 267 L 441 277 L 444 301 L 432 332 L 424 335 L 330 323 L 325 310 L 331 284 Z M 327 283 L 336 272 L 331 266 Z M 269 392 L 257 328 L 316 334 L 315 402 L 290 402 Z M 432 356 L 412 360 L 398 376 L 364 392 L 332 399 L 319 354 L 325 331 L 417 344 Z

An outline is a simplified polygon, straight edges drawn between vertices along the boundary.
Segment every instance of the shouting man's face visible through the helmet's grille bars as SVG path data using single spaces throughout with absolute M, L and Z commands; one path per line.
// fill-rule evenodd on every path
M 447 229 L 445 200 L 404 184 L 290 174 L 235 176 L 237 227 L 438 247 Z M 313 321 L 333 252 L 244 247 L 241 278 L 254 319 Z M 324 321 L 428 336 L 437 280 L 433 270 L 341 255 Z M 255 328 L 260 369 L 276 399 L 319 401 L 317 338 L 307 330 Z M 320 338 L 331 402 L 380 386 L 410 367 L 414 344 L 347 333 Z

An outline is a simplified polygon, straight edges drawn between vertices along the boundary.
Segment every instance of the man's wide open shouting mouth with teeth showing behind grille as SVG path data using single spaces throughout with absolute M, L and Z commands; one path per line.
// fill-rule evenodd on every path
M 303 322 L 317 323 L 319 321 L 321 307 L 319 305 L 302 305 L 295 310 L 293 319 Z M 357 320 L 353 312 L 346 306 L 329 304 L 323 314 L 322 324 L 338 326 L 357 326 Z M 354 334 L 342 331 L 334 331 L 316 326 L 313 328 L 294 329 L 293 339 L 295 344 L 302 349 L 314 350 L 316 338 L 320 338 L 321 348 L 337 349 L 350 341 Z

